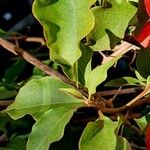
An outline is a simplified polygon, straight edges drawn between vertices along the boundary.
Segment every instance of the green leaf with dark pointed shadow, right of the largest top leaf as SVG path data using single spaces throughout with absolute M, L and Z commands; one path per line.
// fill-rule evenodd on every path
M 95 51 L 110 49 L 113 37 L 122 39 L 129 21 L 137 10 L 127 0 L 107 0 L 106 2 L 109 3 L 110 7 L 97 6 L 93 8 L 95 26 L 88 35 L 88 40 L 92 39 L 96 42 L 95 45 L 91 46 Z

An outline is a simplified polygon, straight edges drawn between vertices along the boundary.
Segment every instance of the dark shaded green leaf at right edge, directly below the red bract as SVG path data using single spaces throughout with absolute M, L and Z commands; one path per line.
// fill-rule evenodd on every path
M 139 51 L 136 66 L 142 77 L 147 78 L 150 75 L 150 48 L 143 48 Z

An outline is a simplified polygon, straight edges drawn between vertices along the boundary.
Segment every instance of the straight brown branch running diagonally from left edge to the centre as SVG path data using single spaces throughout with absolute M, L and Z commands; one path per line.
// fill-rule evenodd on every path
M 4 47 L 6 50 L 12 52 L 13 54 L 21 56 L 27 62 L 29 62 L 32 65 L 34 65 L 35 67 L 39 68 L 40 70 L 45 72 L 47 75 L 57 78 L 69 85 L 72 85 L 77 90 L 79 90 L 85 97 L 88 97 L 87 91 L 85 88 L 83 88 L 81 85 L 78 85 L 78 87 L 77 87 L 75 82 L 71 81 L 69 78 L 62 75 L 58 71 L 55 71 L 54 69 L 50 68 L 49 66 L 47 66 L 46 64 L 44 64 L 43 62 L 41 62 L 40 60 L 38 60 L 37 58 L 32 56 L 30 53 L 25 51 L 24 49 L 17 47 L 14 44 L 12 44 L 11 42 L 4 40 L 2 38 L 0 38 L 0 45 L 2 47 Z

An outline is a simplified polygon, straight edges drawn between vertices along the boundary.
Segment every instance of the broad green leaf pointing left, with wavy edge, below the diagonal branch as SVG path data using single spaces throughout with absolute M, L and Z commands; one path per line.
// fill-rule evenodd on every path
M 83 104 L 81 100 L 59 91 L 60 88 L 70 88 L 70 86 L 51 77 L 32 79 L 20 89 L 15 102 L 5 111 L 13 119 L 26 114 L 38 118 L 54 106 Z

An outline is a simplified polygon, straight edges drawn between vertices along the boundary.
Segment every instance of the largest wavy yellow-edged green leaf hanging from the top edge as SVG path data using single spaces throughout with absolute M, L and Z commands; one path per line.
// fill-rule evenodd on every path
M 33 13 L 44 27 L 51 58 L 73 64 L 80 58 L 80 41 L 94 26 L 90 7 L 96 0 L 35 0 Z

